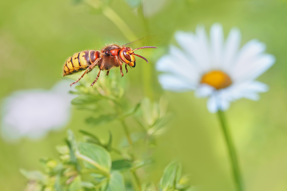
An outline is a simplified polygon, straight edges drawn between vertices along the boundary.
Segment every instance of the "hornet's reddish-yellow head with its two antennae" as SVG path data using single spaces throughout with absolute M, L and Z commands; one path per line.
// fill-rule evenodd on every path
M 155 46 L 143 46 L 143 47 L 140 47 L 140 48 L 136 48 L 134 50 L 132 50 L 131 48 L 129 47 L 123 47 L 121 50 L 120 50 L 120 58 L 121 60 L 123 60 L 123 62 L 125 62 L 126 64 L 128 64 L 129 66 L 131 67 L 135 67 L 135 56 L 138 56 L 144 60 L 146 60 L 146 62 L 148 62 L 148 60 L 138 54 L 135 54 L 133 53 L 133 51 L 135 50 L 138 50 L 138 49 L 141 49 L 141 48 L 157 48 Z

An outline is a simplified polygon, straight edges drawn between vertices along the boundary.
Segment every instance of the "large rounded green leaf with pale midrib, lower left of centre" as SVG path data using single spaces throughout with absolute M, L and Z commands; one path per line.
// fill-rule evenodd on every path
M 79 151 L 82 155 L 89 157 L 90 159 L 97 162 L 102 168 L 110 171 L 112 166 L 112 161 L 110 153 L 100 145 L 95 145 L 91 143 L 79 142 Z M 92 164 L 84 161 L 84 166 L 86 168 L 96 168 Z

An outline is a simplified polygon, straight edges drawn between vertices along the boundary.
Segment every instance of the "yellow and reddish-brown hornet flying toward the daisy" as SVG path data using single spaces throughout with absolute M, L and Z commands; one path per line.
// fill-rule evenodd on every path
M 127 73 L 127 65 L 133 68 L 135 67 L 135 56 L 143 58 L 144 60 L 146 60 L 146 62 L 148 62 L 148 60 L 143 56 L 133 53 L 135 50 L 141 48 L 157 48 L 157 47 L 143 46 L 133 50 L 129 47 L 126 47 L 125 45 L 119 46 L 116 44 L 112 44 L 102 48 L 102 50 L 100 51 L 87 50 L 77 52 L 72 57 L 69 57 L 65 62 L 63 67 L 64 72 L 63 76 L 85 70 L 85 72 L 82 74 L 81 77 L 79 77 L 79 79 L 70 84 L 70 86 L 72 86 L 73 84 L 77 83 L 81 78 L 83 78 L 86 73 L 92 71 L 92 69 L 95 66 L 98 66 L 100 71 L 94 82 L 92 82 L 91 86 L 93 86 L 97 82 L 101 70 L 107 70 L 106 75 L 108 75 L 111 68 L 120 67 L 120 72 L 123 77 L 124 75 L 122 67 L 123 63 L 125 63 L 125 69 Z

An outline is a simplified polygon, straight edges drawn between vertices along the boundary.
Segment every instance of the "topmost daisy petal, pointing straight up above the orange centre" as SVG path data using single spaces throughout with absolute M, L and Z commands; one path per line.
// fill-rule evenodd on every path
M 222 48 L 223 48 L 223 28 L 219 23 L 215 23 L 210 28 L 210 48 L 211 48 L 211 65 L 218 68 L 222 65 Z

